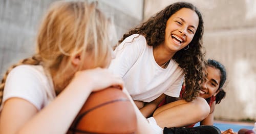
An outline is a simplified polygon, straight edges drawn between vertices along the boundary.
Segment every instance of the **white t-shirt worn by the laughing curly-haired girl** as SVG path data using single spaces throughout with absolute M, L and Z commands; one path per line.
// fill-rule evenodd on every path
M 109 70 L 124 80 L 125 87 L 134 100 L 151 102 L 161 94 L 179 97 L 184 71 L 171 59 L 167 68 L 157 64 L 153 47 L 148 46 L 144 36 L 133 34 L 114 51 L 116 58 Z

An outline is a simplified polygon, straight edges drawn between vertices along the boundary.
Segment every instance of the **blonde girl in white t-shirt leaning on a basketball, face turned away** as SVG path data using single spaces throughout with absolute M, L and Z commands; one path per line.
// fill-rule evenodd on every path
M 111 61 L 110 21 L 86 2 L 56 2 L 42 20 L 36 53 L 0 85 L 0 133 L 66 133 L 91 92 L 120 77 Z

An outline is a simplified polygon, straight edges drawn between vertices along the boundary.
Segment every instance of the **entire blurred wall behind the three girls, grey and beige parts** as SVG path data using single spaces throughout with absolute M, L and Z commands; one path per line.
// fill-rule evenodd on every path
M 93 0 L 92 0 L 93 1 Z M 35 36 L 51 0 L 0 0 L 0 78 L 20 59 L 35 51 Z M 90 1 L 91 2 L 91 1 Z M 112 18 L 117 40 L 129 29 L 176 0 L 99 0 Z M 224 121 L 256 120 L 256 1 L 187 0 L 204 19 L 206 57 L 223 63 L 227 70 L 226 98 L 215 108 Z M 14 83 L 15 84 L 15 83 Z

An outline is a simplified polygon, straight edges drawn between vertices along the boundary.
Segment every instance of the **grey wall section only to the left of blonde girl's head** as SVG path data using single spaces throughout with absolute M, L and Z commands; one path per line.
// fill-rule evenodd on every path
M 0 1 L 0 73 L 34 52 L 41 13 L 51 1 Z M 2 78 L 2 75 L 1 75 Z

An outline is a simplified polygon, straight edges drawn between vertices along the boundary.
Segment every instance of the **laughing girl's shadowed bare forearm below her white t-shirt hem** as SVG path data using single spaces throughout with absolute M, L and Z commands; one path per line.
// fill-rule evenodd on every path
M 157 106 L 161 103 L 161 101 L 165 98 L 166 95 L 162 94 L 157 99 L 150 103 L 145 103 L 145 106 L 140 108 L 140 112 L 146 118 L 150 117 L 153 112 L 156 110 Z

